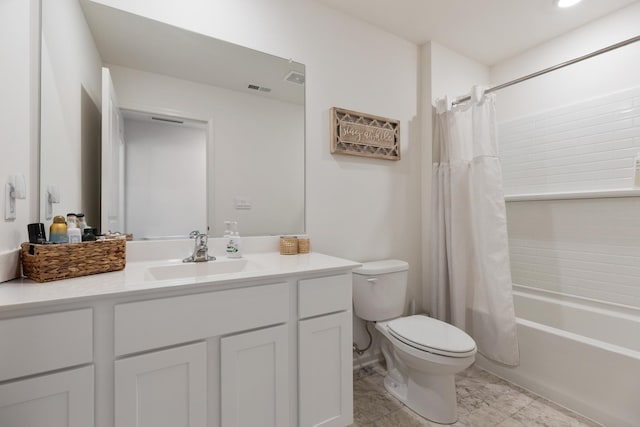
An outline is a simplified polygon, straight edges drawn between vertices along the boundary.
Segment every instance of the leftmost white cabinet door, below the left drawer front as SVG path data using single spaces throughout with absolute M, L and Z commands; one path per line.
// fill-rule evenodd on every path
M 85 366 L 2 384 L 0 426 L 92 426 L 93 382 L 93 366 Z

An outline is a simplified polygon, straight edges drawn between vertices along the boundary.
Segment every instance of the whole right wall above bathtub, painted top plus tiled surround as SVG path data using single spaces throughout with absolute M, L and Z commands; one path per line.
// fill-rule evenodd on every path
M 496 65 L 491 70 L 492 80 L 502 83 L 630 38 L 638 34 L 638 22 L 640 3 L 634 3 Z M 633 147 L 640 147 L 640 104 L 626 97 L 622 101 L 628 108 L 614 108 L 609 113 L 601 104 L 611 106 L 608 100 L 625 98 L 624 92 L 613 93 L 634 93 L 630 89 L 640 86 L 638 69 L 640 43 L 498 92 L 499 132 L 505 142 L 514 136 L 516 125 L 531 130 L 520 132 L 530 137 L 529 143 L 519 149 L 504 147 L 505 187 L 512 192 L 562 191 L 563 186 L 581 191 L 628 189 Z M 546 120 L 536 125 L 542 117 Z M 579 117 L 583 120 L 574 120 Z M 548 126 L 553 121 L 556 125 Z M 534 137 L 534 128 L 546 131 Z M 597 158 L 590 157 L 594 149 L 599 150 Z M 566 155 L 568 150 L 572 156 Z M 542 168 L 538 173 L 531 164 L 536 158 Z M 558 165 L 564 165 L 565 173 Z M 529 173 L 518 175 L 525 168 L 530 168 Z M 583 173 L 571 175 L 576 168 L 582 168 Z M 540 180 L 545 175 L 549 176 Z M 595 175 L 600 179 L 591 180 Z M 521 179 L 516 182 L 517 177 Z M 571 183 L 571 179 L 578 180 Z M 523 187 L 527 182 L 531 185 Z M 639 200 L 508 202 L 514 283 L 639 307 Z

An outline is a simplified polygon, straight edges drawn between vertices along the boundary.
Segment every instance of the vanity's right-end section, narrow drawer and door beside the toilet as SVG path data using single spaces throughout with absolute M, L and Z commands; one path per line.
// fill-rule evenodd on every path
M 351 274 L 300 280 L 300 427 L 353 422 Z

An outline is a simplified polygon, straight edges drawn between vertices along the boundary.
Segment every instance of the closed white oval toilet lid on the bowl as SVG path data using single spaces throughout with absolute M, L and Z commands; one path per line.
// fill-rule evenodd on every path
M 391 335 L 407 345 L 449 357 L 475 353 L 476 343 L 464 331 L 427 316 L 409 316 L 388 323 Z

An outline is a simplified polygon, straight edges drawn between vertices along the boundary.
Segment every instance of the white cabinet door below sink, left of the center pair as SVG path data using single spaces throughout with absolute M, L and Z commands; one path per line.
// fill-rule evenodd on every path
M 117 427 L 205 427 L 204 342 L 115 362 Z

